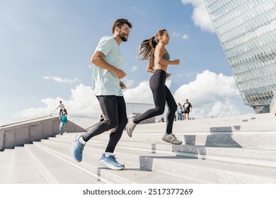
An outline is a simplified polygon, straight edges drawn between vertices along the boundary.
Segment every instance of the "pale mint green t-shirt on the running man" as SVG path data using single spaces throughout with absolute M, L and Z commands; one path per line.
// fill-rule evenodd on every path
M 103 59 L 108 64 L 115 66 L 117 69 L 123 68 L 125 59 L 122 56 L 119 45 L 113 37 L 102 37 L 95 51 L 105 54 Z M 113 72 L 102 69 L 96 65 L 93 68 L 91 88 L 95 95 L 122 96 L 120 79 L 117 78 Z

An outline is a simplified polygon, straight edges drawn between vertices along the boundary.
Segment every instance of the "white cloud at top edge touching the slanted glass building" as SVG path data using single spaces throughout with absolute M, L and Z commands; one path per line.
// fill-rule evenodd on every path
M 207 8 L 203 0 L 182 0 L 183 4 L 192 4 L 194 10 L 192 11 L 192 21 L 195 26 L 211 33 L 214 33 L 214 26 L 207 12 Z

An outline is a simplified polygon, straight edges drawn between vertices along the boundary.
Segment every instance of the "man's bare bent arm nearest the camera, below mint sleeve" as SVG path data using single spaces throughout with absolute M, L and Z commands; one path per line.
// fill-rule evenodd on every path
M 107 62 L 105 62 L 103 57 L 105 57 L 105 54 L 103 54 L 103 52 L 96 51 L 91 57 L 91 63 L 95 64 L 100 68 L 113 72 L 113 74 L 115 74 L 115 76 L 117 76 L 117 78 L 119 79 L 125 77 L 126 75 L 125 71 L 122 71 L 121 69 L 117 69 L 115 66 L 108 64 Z

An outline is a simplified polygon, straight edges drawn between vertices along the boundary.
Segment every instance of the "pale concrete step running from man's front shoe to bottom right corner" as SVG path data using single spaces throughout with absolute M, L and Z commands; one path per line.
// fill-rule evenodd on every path
M 56 150 L 50 148 L 56 146 L 55 144 L 48 144 L 46 142 L 42 144 L 44 144 L 43 146 L 47 145 L 45 148 L 52 149 L 53 151 Z M 67 147 L 69 147 L 69 144 Z M 104 146 L 87 144 L 84 149 L 84 158 L 88 158 L 89 155 L 91 156 L 96 153 L 100 156 L 104 148 Z M 139 165 L 142 169 L 152 170 L 160 174 L 170 173 L 171 177 L 185 176 L 188 178 L 196 178 L 197 181 L 205 183 L 276 182 L 275 168 L 170 156 L 168 154 L 143 151 L 130 151 L 122 148 L 116 148 L 116 156 L 120 158 L 120 163 L 131 162 L 132 165 Z

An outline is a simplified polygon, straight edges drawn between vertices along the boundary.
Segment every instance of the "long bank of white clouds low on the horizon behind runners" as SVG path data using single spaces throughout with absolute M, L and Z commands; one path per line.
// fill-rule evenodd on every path
M 168 88 L 171 87 L 171 83 L 171 79 L 168 78 L 166 81 Z M 149 81 L 143 81 L 134 88 L 129 88 L 129 85 L 127 87 L 124 91 L 126 103 L 154 103 L 151 89 L 149 88 Z M 233 76 L 215 74 L 208 70 L 197 74 L 195 81 L 180 86 L 174 97 L 176 103 L 180 102 L 182 105 L 184 100 L 188 98 L 193 106 L 191 117 L 196 119 L 253 113 L 250 112 L 249 107 L 246 109 L 245 105 L 243 105 Z M 41 100 L 45 107 L 22 110 L 16 114 L 16 117 L 47 115 L 51 110 L 57 108 L 59 100 L 62 100 L 69 114 L 97 117 L 101 112 L 98 100 L 91 92 L 91 88 L 84 86 L 84 84 L 79 84 L 79 86 L 71 89 L 69 100 L 64 98 L 45 98 Z

